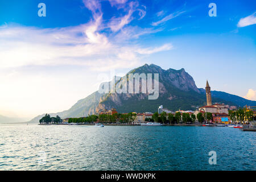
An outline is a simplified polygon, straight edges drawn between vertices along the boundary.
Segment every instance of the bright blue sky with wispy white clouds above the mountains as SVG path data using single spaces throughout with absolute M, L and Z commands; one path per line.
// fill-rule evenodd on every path
M 0 114 L 69 109 L 145 63 L 256 100 L 255 12 L 255 1 L 1 1 Z

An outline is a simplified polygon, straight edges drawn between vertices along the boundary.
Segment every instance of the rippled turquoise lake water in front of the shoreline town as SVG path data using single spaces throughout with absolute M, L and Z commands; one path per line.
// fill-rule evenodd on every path
M 229 127 L 0 125 L 0 169 L 255 170 L 255 137 Z

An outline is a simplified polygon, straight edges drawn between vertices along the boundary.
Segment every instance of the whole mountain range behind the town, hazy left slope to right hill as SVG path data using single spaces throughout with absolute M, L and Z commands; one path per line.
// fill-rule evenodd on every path
M 206 105 L 205 90 L 197 88 L 195 81 L 182 68 L 180 70 L 164 70 L 158 65 L 144 64 L 142 67 L 135 68 L 123 77 L 114 77 L 110 82 L 102 83 L 115 88 L 122 88 L 121 83 L 125 78 L 129 78 L 129 73 L 158 73 L 159 74 L 159 97 L 156 100 L 148 100 L 148 93 L 130 94 L 130 93 L 99 93 L 98 91 L 90 96 L 77 101 L 70 109 L 50 113 L 55 117 L 84 117 L 88 114 L 98 113 L 101 109 L 115 108 L 119 113 L 130 111 L 145 112 L 157 111 L 158 106 L 163 105 L 170 110 L 195 110 L 196 106 Z M 129 79 L 128 79 L 129 80 Z M 114 84 L 113 84 L 114 82 Z M 128 88 L 129 84 L 127 84 Z M 141 88 L 142 81 L 139 82 Z M 111 88 L 113 90 L 114 87 Z M 128 89 L 127 89 L 128 90 Z M 251 105 L 256 106 L 256 101 L 245 100 L 242 97 L 234 96 L 225 92 L 212 91 L 212 102 L 221 102 L 229 105 Z M 44 114 L 32 119 L 30 122 L 38 123 Z

